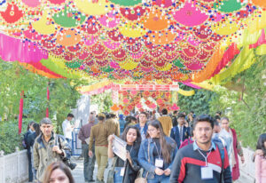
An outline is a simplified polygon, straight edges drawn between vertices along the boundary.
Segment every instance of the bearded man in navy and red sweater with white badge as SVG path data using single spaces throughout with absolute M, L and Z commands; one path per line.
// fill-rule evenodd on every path
M 226 148 L 212 141 L 214 123 L 209 115 L 193 123 L 195 141 L 178 150 L 170 176 L 171 183 L 231 183 Z

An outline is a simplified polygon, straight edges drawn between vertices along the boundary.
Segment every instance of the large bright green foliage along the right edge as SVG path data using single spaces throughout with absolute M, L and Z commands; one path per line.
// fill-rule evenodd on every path
M 220 87 L 210 103 L 211 111 L 222 109 L 224 115 L 229 115 L 242 144 L 253 148 L 259 135 L 266 131 L 266 81 L 262 79 L 266 76 L 265 66 L 265 57 L 258 58 L 251 68 L 224 84 L 234 91 Z

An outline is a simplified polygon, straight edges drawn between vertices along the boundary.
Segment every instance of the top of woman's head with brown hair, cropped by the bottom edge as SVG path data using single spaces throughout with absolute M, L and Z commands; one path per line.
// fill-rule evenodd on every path
M 62 162 L 51 163 L 44 173 L 43 183 L 74 183 L 73 176 Z

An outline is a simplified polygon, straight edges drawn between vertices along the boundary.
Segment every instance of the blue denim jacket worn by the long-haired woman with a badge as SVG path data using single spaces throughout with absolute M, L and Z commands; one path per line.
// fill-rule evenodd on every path
M 174 139 L 171 139 L 167 136 L 164 137 L 168 144 L 172 147 L 171 151 L 171 163 L 167 164 L 167 167 L 171 170 L 172 169 L 172 163 L 174 162 L 175 155 L 177 153 L 177 147 L 176 142 Z M 150 143 L 150 163 L 148 162 L 148 147 Z M 140 145 L 139 151 L 138 151 L 138 163 L 144 168 L 143 177 L 145 178 L 147 176 L 147 179 L 153 179 L 155 176 L 155 169 L 156 166 L 155 160 L 153 158 L 153 148 L 155 142 L 153 142 L 153 139 L 144 139 Z M 148 175 L 147 175 L 148 172 Z

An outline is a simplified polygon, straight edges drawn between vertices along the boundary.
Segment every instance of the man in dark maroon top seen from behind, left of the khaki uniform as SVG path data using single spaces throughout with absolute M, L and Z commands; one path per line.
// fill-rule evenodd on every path
M 82 140 L 82 156 L 84 157 L 83 162 L 83 173 L 85 182 L 94 182 L 92 179 L 94 165 L 95 165 L 95 155 L 89 156 L 89 141 L 90 141 L 90 130 L 94 125 L 95 119 L 89 117 L 89 123 L 84 124 L 79 131 L 78 138 Z M 92 146 L 92 152 L 94 154 L 94 145 Z

